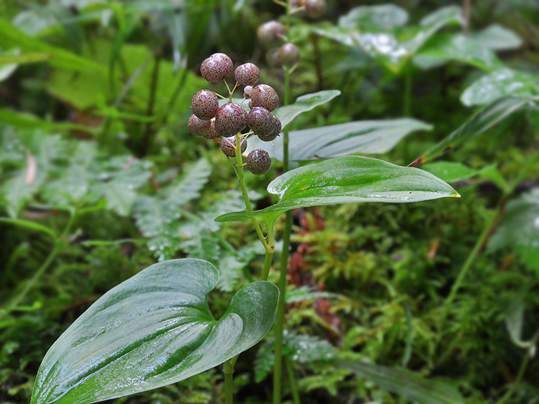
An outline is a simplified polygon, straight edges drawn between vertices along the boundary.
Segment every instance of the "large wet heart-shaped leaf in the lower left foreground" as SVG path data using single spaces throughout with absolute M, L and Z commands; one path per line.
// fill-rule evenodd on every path
M 253 282 L 216 321 L 206 294 L 217 269 L 171 260 L 107 292 L 54 343 L 32 404 L 89 404 L 175 383 L 247 350 L 270 330 L 278 289 Z

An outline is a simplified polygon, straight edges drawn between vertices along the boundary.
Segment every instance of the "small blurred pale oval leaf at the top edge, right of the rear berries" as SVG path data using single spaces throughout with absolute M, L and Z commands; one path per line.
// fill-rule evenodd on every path
M 394 4 L 360 5 L 339 19 L 342 28 L 366 30 L 393 30 L 408 21 L 406 10 Z

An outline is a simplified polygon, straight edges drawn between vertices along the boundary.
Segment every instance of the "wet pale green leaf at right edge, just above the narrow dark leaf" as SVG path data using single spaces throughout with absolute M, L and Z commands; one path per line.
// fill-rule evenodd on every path
M 498 69 L 476 80 L 461 95 L 467 106 L 484 105 L 505 96 L 529 97 L 539 92 L 539 77 L 512 69 Z

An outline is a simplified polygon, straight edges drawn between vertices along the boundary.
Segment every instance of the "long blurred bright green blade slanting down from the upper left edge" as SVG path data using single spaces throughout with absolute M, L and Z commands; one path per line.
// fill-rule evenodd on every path
M 50 65 L 62 69 L 75 71 L 99 71 L 104 73 L 104 69 L 94 61 L 72 54 L 47 43 L 32 38 L 17 27 L 11 25 L 5 19 L 0 19 L 0 46 L 3 48 L 20 47 L 25 52 L 43 52 L 52 55 Z

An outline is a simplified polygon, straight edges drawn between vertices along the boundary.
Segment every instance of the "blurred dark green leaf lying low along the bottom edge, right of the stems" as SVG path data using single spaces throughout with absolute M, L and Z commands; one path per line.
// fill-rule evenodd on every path
M 375 366 L 349 359 L 333 361 L 336 368 L 347 369 L 372 381 L 388 392 L 418 404 L 464 404 L 459 390 L 443 381 L 424 379 L 408 370 Z

